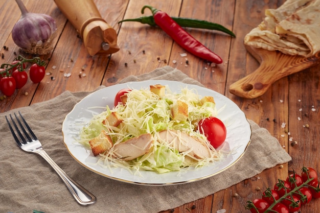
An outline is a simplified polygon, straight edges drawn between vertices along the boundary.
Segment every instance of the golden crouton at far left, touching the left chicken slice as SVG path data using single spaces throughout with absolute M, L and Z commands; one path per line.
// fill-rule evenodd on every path
M 94 156 L 97 156 L 109 150 L 113 146 L 113 143 L 107 132 L 103 130 L 97 137 L 89 140 L 89 145 Z

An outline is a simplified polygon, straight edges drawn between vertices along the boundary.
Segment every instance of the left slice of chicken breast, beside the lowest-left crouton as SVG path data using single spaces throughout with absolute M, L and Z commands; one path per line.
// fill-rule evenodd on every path
M 113 154 L 123 160 L 133 160 L 149 152 L 154 143 L 153 136 L 150 133 L 133 137 L 120 144 L 116 144 Z

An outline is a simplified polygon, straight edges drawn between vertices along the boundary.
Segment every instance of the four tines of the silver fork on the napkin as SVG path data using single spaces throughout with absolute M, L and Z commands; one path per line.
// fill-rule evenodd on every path
M 19 139 L 19 138 L 17 137 L 17 135 L 15 134 L 15 131 L 14 131 L 12 125 L 10 124 L 7 116 L 6 116 L 6 120 L 7 120 L 7 123 L 8 123 L 8 125 L 9 125 L 10 131 L 11 131 L 11 133 L 12 133 L 15 141 L 17 142 L 17 144 L 18 144 L 19 146 L 21 146 L 21 143 L 22 143 L 22 144 L 26 144 L 27 141 L 28 141 L 28 142 L 31 142 L 32 139 L 37 140 L 37 137 L 36 137 L 35 134 L 32 132 L 31 128 L 30 128 L 29 125 L 27 124 L 26 120 L 24 119 L 24 117 L 22 116 L 22 114 L 20 113 L 20 111 L 18 111 L 18 113 L 19 113 L 19 115 L 20 115 L 20 119 L 19 119 L 19 117 L 18 117 L 18 115 L 17 115 L 16 113 L 14 113 L 14 116 L 15 116 L 15 120 L 17 121 L 17 123 L 18 123 L 21 131 L 23 132 L 23 134 L 22 134 L 21 131 L 19 130 L 19 127 L 18 127 L 18 125 L 16 124 L 16 122 L 14 121 L 14 117 L 13 117 L 11 114 L 10 114 L 10 119 L 11 119 L 11 122 L 12 122 L 14 128 L 15 128 L 15 131 L 16 131 L 17 134 L 19 135 L 19 138 L 20 138 L 20 139 Z M 21 123 L 21 121 L 22 121 L 22 123 Z M 27 128 L 29 134 L 28 134 L 26 128 Z M 31 137 L 30 135 L 31 135 L 32 137 Z

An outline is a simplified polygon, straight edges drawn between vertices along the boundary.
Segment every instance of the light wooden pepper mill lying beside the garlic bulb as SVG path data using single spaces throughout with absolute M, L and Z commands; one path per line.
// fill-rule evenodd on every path
M 54 0 L 80 34 L 88 53 L 109 55 L 119 51 L 115 29 L 101 17 L 93 0 Z

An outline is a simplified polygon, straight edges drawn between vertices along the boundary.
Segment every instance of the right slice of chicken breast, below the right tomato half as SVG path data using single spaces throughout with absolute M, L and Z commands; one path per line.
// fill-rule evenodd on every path
M 197 159 L 212 157 L 212 151 L 209 146 L 205 145 L 205 141 L 201 141 L 201 139 L 190 136 L 187 133 L 164 130 L 159 132 L 159 138 L 167 141 L 170 146 L 179 152 L 188 152 L 188 155 Z

